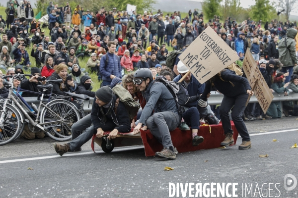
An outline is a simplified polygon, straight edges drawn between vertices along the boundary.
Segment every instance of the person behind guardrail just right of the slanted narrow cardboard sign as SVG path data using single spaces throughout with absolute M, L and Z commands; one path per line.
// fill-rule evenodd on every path
M 272 84 L 271 89 L 273 89 L 278 94 L 289 96 L 289 83 L 285 84 L 285 80 L 286 76 L 284 76 L 284 73 L 278 73 L 276 77 L 274 77 L 274 83 Z M 281 118 L 283 115 L 281 101 L 271 102 L 266 115 L 271 116 L 272 118 Z

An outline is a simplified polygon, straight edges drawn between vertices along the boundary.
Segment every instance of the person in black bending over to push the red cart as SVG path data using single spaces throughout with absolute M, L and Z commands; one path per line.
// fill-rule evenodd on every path
M 220 116 L 223 123 L 225 139 L 221 145 L 228 146 L 234 144 L 233 130 L 231 129 L 231 123 L 228 116 L 229 111 L 234 106 L 232 110 L 232 119 L 242 138 L 242 144 L 239 146 L 239 149 L 251 148 L 250 137 L 244 121 L 241 118 L 248 96 L 253 95 L 248 80 L 242 76 L 237 76 L 234 71 L 229 69 L 222 70 L 219 74 L 206 82 L 205 90 L 198 102 L 201 107 L 204 107 L 207 104 L 207 95 L 211 91 L 212 84 L 214 84 L 215 88 L 220 93 L 224 94 L 224 99 L 222 101 L 222 104 L 224 105 L 221 105 L 220 107 Z

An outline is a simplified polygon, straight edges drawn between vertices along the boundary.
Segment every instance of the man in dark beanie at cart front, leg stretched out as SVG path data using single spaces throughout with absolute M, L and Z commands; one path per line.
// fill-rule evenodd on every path
M 91 114 L 74 123 L 71 142 L 64 145 L 54 143 L 56 152 L 62 156 L 66 152 L 81 150 L 80 147 L 88 142 L 93 134 L 102 138 L 104 131 L 111 131 L 107 137 L 109 140 L 115 139 L 118 133 L 130 132 L 128 112 L 121 101 L 116 106 L 116 99 L 117 96 L 109 86 L 98 89 L 95 92 Z M 80 135 L 83 130 L 85 132 Z

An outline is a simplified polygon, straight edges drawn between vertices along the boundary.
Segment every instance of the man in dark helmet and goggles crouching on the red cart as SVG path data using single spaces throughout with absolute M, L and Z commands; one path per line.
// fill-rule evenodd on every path
M 143 96 L 147 101 L 139 123 L 134 128 L 134 134 L 140 133 L 140 129 L 145 124 L 150 133 L 163 146 L 163 149 L 156 152 L 155 156 L 176 159 L 178 151 L 172 144 L 170 131 L 179 125 L 179 115 L 172 94 L 164 84 L 153 82 L 152 73 L 147 68 L 137 70 L 133 82 L 141 92 L 144 92 Z M 152 112 L 154 112 L 153 115 L 151 115 Z

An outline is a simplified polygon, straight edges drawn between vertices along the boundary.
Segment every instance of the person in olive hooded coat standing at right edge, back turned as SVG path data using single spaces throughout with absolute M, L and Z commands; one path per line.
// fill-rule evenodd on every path
M 289 76 L 286 77 L 285 83 L 290 82 L 294 66 L 296 66 L 298 63 L 298 59 L 296 56 L 296 35 L 297 30 L 295 28 L 288 28 L 286 37 L 284 37 L 278 43 L 279 59 L 283 64 L 282 72 L 289 73 Z

